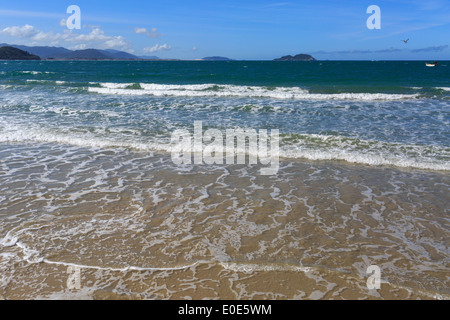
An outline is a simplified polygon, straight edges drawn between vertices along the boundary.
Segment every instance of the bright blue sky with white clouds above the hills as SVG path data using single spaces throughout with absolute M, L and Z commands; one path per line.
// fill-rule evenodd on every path
M 69 5 L 81 9 L 69 30 Z M 369 30 L 367 8 L 381 9 Z M 136 55 L 271 60 L 308 53 L 329 60 L 450 60 L 449 0 L 87 1 L 0 4 L 0 43 L 114 48 Z M 408 43 L 402 40 L 410 39 Z

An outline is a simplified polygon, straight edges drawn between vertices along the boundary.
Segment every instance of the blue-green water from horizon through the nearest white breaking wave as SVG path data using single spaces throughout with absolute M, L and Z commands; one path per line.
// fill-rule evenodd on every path
M 1 62 L 0 142 L 167 151 L 201 120 L 279 129 L 286 158 L 449 170 L 448 64 Z

